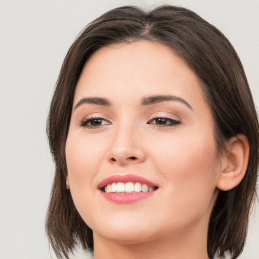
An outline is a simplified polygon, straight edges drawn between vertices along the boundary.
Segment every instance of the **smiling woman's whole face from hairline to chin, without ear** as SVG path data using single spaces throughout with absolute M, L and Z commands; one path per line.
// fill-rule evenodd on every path
M 94 53 L 77 82 L 66 161 L 94 238 L 206 236 L 220 171 L 212 116 L 168 47 L 143 40 Z

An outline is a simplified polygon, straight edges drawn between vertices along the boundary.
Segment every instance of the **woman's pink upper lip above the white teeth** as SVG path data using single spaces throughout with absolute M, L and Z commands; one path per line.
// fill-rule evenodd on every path
M 152 183 L 151 181 L 141 176 L 128 174 L 128 175 L 113 175 L 113 176 L 107 177 L 98 185 L 98 189 L 102 189 L 103 187 L 105 187 L 110 183 L 127 183 L 127 182 L 138 182 L 138 183 L 146 184 L 148 186 L 158 187 L 157 184 Z

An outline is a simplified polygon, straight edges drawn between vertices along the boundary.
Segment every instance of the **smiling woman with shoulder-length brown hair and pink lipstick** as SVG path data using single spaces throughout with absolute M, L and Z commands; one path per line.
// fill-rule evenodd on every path
M 230 42 L 195 13 L 111 10 L 68 51 L 48 136 L 57 256 L 214 258 L 242 252 L 258 122 Z

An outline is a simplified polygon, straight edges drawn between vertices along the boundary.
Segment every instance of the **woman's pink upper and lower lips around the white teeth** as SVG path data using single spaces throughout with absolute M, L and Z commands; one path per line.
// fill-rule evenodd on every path
M 100 190 L 101 194 L 105 199 L 119 204 L 133 203 L 140 199 L 147 198 L 153 195 L 155 190 L 151 192 L 121 192 L 121 193 L 117 193 L 117 192 L 106 193 L 101 191 L 101 189 L 104 188 L 106 185 L 110 183 L 118 183 L 118 182 L 121 182 L 121 183 L 139 182 L 142 184 L 146 184 L 148 186 L 158 187 L 156 184 L 137 175 L 114 175 L 114 176 L 108 177 L 98 185 L 98 189 Z

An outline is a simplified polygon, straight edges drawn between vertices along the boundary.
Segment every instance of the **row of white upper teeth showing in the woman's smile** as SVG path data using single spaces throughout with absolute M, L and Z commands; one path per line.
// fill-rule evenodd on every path
M 141 183 L 112 183 L 104 187 L 105 192 L 152 192 L 155 187 Z

